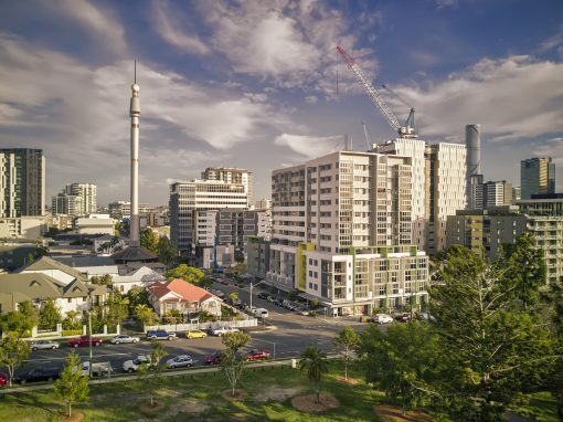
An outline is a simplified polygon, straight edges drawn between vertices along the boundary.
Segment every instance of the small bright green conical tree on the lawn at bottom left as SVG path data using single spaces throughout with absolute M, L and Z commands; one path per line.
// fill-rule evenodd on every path
M 88 399 L 88 377 L 82 371 L 81 358 L 74 351 L 66 358 L 66 365 L 61 372 L 61 378 L 55 381 L 55 395 L 61 399 L 72 416 L 72 407 Z

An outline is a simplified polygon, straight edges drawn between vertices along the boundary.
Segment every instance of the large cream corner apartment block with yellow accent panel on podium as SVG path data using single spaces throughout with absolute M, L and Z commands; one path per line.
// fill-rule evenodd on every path
M 332 315 L 416 306 L 428 257 L 412 244 L 412 159 L 394 155 L 339 151 L 275 170 L 272 243 L 249 242 L 248 271 Z

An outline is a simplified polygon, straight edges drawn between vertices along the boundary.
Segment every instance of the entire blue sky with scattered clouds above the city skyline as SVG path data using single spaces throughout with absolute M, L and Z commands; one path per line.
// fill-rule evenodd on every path
M 46 201 L 71 182 L 98 204 L 129 199 L 129 98 L 140 85 L 140 202 L 174 181 L 270 172 L 395 130 L 339 56 L 342 48 L 399 122 L 465 141 L 481 125 L 485 180 L 520 184 L 520 160 L 552 157 L 563 191 L 563 1 L 6 0 L 0 147 L 42 148 Z M 386 88 L 382 87 L 385 85 Z M 365 124 L 368 139 L 362 123 Z

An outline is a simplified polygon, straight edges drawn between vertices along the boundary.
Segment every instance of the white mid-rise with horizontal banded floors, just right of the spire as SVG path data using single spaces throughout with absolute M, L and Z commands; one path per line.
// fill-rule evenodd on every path
M 248 207 L 243 184 L 223 180 L 193 180 L 170 186 L 170 239 L 189 254 L 196 243 L 198 220 L 194 211 Z

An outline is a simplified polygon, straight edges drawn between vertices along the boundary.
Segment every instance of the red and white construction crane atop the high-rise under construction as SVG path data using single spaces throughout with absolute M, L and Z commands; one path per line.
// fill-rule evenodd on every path
M 399 124 L 397 118 L 387 107 L 380 93 L 373 87 L 365 73 L 363 73 L 362 68 L 354 62 L 354 60 L 342 49 L 342 46 L 337 46 L 338 52 L 348 64 L 348 67 L 353 72 L 358 81 L 362 84 L 362 87 L 365 89 L 368 95 L 370 96 L 372 103 L 380 109 L 383 114 L 383 117 L 387 120 L 389 125 L 395 129 L 400 137 L 402 138 L 416 138 L 416 131 L 414 130 L 414 108 L 411 108 L 411 113 L 408 114 L 408 118 L 404 126 Z M 412 124 L 412 125 L 411 125 Z

